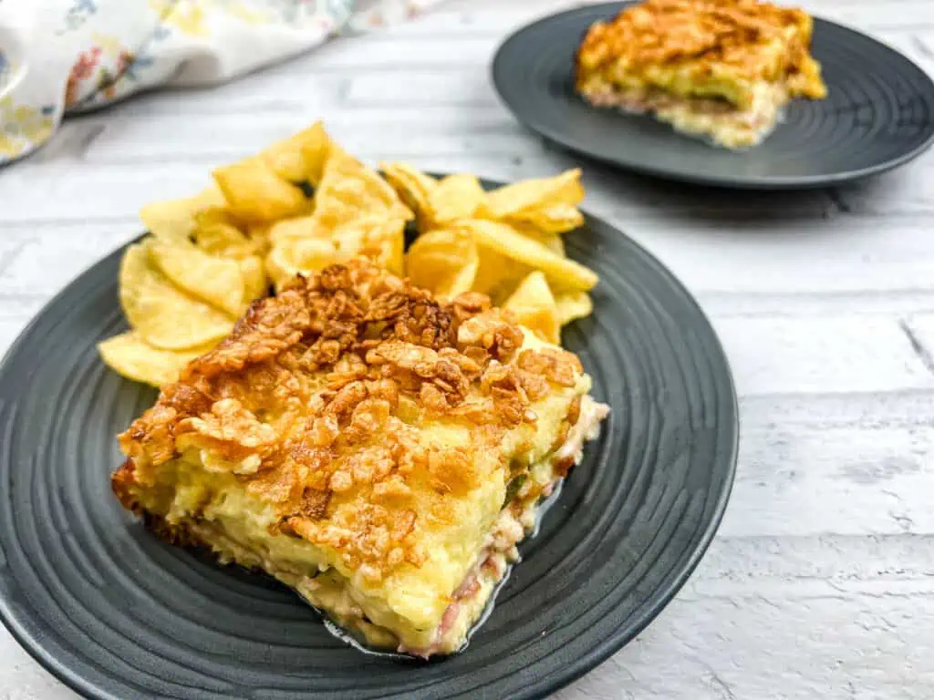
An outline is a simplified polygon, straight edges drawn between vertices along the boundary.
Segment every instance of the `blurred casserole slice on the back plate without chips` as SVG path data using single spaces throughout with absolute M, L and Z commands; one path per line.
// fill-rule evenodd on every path
M 791 98 L 827 96 L 812 27 L 803 10 L 757 0 L 646 0 L 589 28 L 577 91 L 719 146 L 755 146 Z

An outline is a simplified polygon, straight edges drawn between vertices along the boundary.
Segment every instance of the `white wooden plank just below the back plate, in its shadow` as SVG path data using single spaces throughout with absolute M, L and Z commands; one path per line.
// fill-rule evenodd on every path
M 695 205 L 682 213 L 617 206 L 613 220 L 693 291 L 742 295 L 737 303 L 752 308 L 748 294 L 934 290 L 934 216 L 814 218 L 795 209 L 783 216 L 777 206 L 757 211 L 752 202 L 731 211 Z

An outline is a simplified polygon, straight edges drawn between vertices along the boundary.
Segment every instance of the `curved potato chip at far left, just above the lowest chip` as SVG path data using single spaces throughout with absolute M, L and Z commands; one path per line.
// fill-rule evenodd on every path
M 217 341 L 233 329 L 229 315 L 175 287 L 149 258 L 153 239 L 131 245 L 120 261 L 120 306 L 150 345 L 182 350 Z

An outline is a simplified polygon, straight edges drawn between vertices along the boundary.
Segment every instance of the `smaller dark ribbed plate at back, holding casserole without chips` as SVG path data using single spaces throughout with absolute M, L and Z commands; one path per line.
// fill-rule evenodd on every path
M 597 108 L 574 92 L 574 54 L 587 28 L 630 3 L 579 7 L 510 36 L 493 60 L 505 105 L 532 131 L 628 170 L 745 189 L 826 187 L 911 161 L 934 143 L 934 82 L 869 36 L 814 20 L 812 52 L 825 100 L 795 100 L 785 122 L 743 152 L 709 146 L 649 116 Z

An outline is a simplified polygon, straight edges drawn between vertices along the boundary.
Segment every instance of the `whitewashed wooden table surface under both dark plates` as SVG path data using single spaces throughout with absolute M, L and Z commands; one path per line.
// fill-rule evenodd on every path
M 0 170 L 0 350 L 140 231 L 142 203 L 310 123 L 370 161 L 498 178 L 572 155 L 497 103 L 498 42 L 554 0 L 452 0 L 207 91 L 66 122 Z M 934 0 L 811 0 L 934 72 Z M 710 552 L 655 623 L 560 698 L 934 697 L 934 152 L 804 193 L 588 167 L 587 208 L 698 296 L 727 347 L 740 464 Z M 0 699 L 72 698 L 0 628 Z

